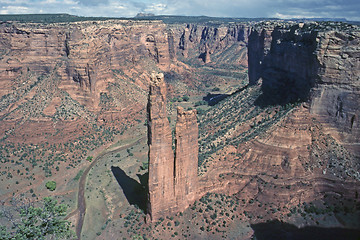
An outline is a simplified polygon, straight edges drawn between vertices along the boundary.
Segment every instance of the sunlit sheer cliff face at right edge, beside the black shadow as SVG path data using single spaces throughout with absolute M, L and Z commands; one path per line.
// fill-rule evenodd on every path
M 319 83 L 310 111 L 328 123 L 327 132 L 360 155 L 360 31 L 329 31 L 317 37 Z

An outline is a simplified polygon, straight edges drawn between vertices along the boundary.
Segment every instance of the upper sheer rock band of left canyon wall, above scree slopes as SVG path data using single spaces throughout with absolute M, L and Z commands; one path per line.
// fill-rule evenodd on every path
M 146 62 L 164 70 L 169 65 L 167 33 L 160 22 L 2 24 L 0 34 L 1 48 L 6 49 L 0 74 L 7 84 L 1 88 L 1 95 L 11 90 L 11 80 L 26 72 L 53 74 L 60 80 L 60 91 L 96 111 L 101 105 L 100 95 L 109 94 L 108 84 L 116 81 L 114 74 L 136 74 L 139 65 Z M 145 91 L 147 82 L 146 78 L 136 79 L 136 85 Z

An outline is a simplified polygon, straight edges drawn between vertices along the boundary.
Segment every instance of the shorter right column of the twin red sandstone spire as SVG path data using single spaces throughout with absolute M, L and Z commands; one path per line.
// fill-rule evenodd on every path
M 198 124 L 196 110 L 177 109 L 175 197 L 177 210 L 185 210 L 197 195 Z

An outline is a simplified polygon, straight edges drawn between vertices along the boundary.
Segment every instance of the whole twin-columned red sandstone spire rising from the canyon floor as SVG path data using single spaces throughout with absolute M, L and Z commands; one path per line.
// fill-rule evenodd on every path
M 175 148 L 166 113 L 162 73 L 151 75 L 148 103 L 149 194 L 151 220 L 185 210 L 197 197 L 198 125 L 196 110 L 178 108 Z

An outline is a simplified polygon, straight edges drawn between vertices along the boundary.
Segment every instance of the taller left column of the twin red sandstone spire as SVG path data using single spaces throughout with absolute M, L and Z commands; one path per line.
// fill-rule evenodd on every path
M 175 207 L 174 153 L 166 113 L 166 85 L 162 73 L 151 75 L 148 113 L 148 214 L 152 220 L 156 220 Z

